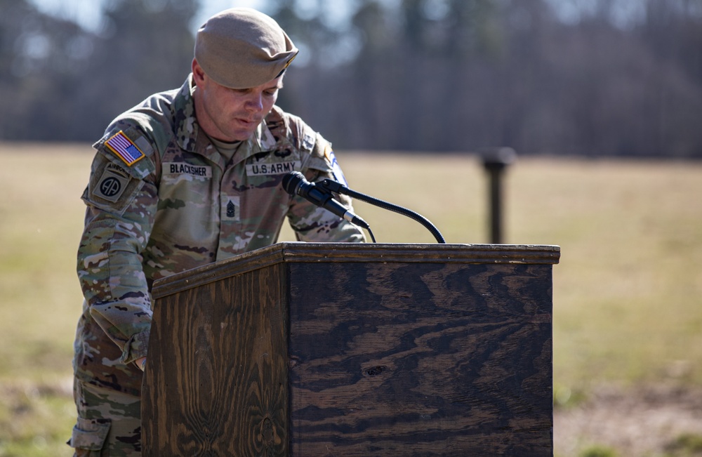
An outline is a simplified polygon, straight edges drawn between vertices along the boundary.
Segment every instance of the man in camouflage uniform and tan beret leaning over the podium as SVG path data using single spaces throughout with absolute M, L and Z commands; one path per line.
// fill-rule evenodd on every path
M 185 84 L 121 114 L 94 145 L 78 253 L 77 456 L 140 455 L 155 279 L 272 244 L 286 218 L 301 241 L 364 241 L 282 189 L 289 171 L 344 179 L 331 145 L 274 106 L 297 52 L 268 16 L 223 11 L 199 29 Z

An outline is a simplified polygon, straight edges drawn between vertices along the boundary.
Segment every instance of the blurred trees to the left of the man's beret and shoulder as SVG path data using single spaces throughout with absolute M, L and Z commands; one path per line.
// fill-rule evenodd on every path
M 0 0 L 0 138 L 94 141 L 151 93 L 183 84 L 190 0 L 103 2 L 99 32 Z

